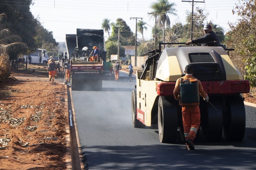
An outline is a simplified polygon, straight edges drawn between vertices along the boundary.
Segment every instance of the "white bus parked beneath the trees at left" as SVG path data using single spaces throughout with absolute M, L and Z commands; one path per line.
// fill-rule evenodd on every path
M 31 63 L 36 64 L 47 64 L 48 63 L 48 55 L 45 49 L 37 49 L 34 53 L 31 53 Z M 23 55 L 23 57 L 27 58 L 28 55 Z

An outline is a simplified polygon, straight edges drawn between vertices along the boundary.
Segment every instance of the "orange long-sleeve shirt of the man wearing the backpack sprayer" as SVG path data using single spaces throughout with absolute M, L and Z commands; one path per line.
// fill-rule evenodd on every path
M 186 74 L 185 76 L 182 77 L 184 81 L 189 81 L 189 80 L 192 80 L 192 79 L 196 79 L 194 78 L 192 75 L 190 74 Z M 174 95 L 174 98 L 176 100 L 180 100 L 180 81 L 181 81 L 181 78 L 179 78 L 177 81 L 176 81 L 176 84 L 175 84 L 175 87 L 174 87 L 174 90 L 173 90 L 173 95 Z M 199 94 L 201 96 L 203 96 L 204 98 L 207 96 L 206 92 L 204 91 L 204 88 L 201 84 L 201 82 L 199 80 L 197 80 L 198 82 L 198 90 L 199 90 Z M 198 104 L 197 104 L 198 105 Z

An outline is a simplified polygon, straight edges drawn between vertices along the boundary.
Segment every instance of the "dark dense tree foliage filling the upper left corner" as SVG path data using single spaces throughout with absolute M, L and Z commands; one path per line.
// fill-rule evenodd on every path
M 32 0 L 1 2 L 0 11 L 7 16 L 2 27 L 8 28 L 15 35 L 19 35 L 22 42 L 28 46 L 26 50 L 20 49 L 20 51 L 12 52 L 10 60 L 17 59 L 20 53 L 31 53 L 37 48 L 44 48 L 48 52 L 52 52 L 52 49 L 58 46 L 52 32 L 46 30 L 38 18 L 34 18 L 30 12 L 30 5 L 33 5 Z

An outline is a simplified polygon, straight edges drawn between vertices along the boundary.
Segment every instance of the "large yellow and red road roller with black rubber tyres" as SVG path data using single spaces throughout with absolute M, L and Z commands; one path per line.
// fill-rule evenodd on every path
M 233 49 L 209 46 L 182 46 L 147 52 L 144 70 L 137 71 L 132 90 L 133 127 L 158 124 L 159 140 L 185 141 L 179 101 L 174 99 L 176 80 L 185 76 L 186 65 L 194 68 L 193 77 L 201 81 L 209 102 L 199 98 L 201 124 L 196 139 L 242 141 L 245 133 L 243 93 L 250 92 L 250 82 L 232 63 L 228 53 Z M 199 135 L 200 134 L 200 135 Z M 179 137 L 179 138 L 177 138 Z

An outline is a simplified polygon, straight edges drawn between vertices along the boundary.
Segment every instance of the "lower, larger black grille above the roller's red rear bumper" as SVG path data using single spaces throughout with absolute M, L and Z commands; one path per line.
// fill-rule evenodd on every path
M 222 80 L 218 66 L 193 66 L 193 77 L 200 81 Z

